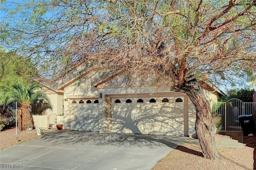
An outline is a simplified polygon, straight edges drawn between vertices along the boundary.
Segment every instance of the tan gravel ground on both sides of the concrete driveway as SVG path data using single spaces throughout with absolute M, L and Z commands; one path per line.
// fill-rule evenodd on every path
M 15 128 L 4 130 L 0 132 L 0 150 L 38 137 L 25 131 L 18 131 L 16 136 Z M 217 134 L 215 140 L 218 142 L 222 138 L 222 135 Z M 256 136 L 244 136 L 243 148 L 218 147 L 221 160 L 205 159 L 200 145 L 191 144 L 193 140 L 197 141 L 189 138 L 172 150 L 152 170 L 256 170 Z

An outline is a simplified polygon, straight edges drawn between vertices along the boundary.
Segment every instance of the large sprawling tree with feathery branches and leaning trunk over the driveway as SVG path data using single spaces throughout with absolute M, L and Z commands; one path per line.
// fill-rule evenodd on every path
M 234 84 L 255 71 L 255 0 L 35 0 L 6 1 L 4 8 L 4 46 L 47 76 L 82 63 L 77 74 L 122 70 L 128 83 L 155 75 L 184 92 L 196 108 L 204 157 L 220 158 L 199 82 Z

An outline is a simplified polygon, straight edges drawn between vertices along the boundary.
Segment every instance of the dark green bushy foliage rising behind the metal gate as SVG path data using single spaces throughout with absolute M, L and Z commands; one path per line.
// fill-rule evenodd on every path
M 227 96 L 222 96 L 220 101 L 226 102 L 232 98 L 237 98 L 242 102 L 253 102 L 252 95 L 254 94 L 254 89 L 241 88 L 241 89 L 232 89 L 228 91 Z

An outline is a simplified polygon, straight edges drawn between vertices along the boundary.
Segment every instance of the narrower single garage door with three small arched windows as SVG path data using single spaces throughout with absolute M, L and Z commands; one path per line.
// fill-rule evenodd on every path
M 71 130 L 98 131 L 98 100 L 72 100 Z

